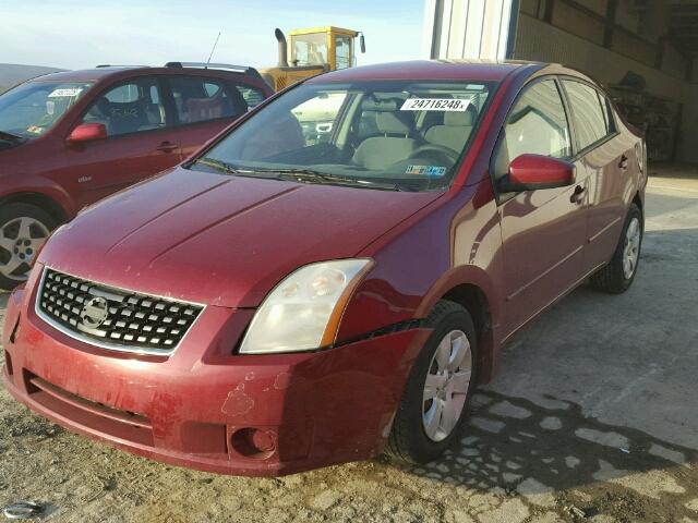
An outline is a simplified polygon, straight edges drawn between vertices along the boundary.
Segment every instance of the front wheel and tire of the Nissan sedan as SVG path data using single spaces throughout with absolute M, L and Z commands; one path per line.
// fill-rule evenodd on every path
M 434 330 L 414 361 L 385 449 L 410 464 L 435 460 L 459 439 L 477 380 L 478 345 L 468 311 L 442 300 L 426 324 Z

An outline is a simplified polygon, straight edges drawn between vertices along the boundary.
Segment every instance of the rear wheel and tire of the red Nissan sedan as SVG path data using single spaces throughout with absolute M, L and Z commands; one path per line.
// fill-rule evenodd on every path
M 613 258 L 591 277 L 594 289 L 611 294 L 628 290 L 637 273 L 643 233 L 642 212 L 636 204 L 630 204 Z

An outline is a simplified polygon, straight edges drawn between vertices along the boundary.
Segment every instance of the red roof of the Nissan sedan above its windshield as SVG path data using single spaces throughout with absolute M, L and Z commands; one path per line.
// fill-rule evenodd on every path
M 546 64 L 524 61 L 413 60 L 342 69 L 314 76 L 309 83 L 354 82 L 362 80 L 468 80 L 500 82 L 509 73 L 528 68 L 531 73 Z

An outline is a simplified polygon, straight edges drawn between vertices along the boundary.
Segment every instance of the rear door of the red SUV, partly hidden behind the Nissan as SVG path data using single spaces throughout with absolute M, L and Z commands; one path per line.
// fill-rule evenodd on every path
M 168 76 L 167 82 L 182 158 L 266 98 L 256 87 L 216 77 L 180 74 Z

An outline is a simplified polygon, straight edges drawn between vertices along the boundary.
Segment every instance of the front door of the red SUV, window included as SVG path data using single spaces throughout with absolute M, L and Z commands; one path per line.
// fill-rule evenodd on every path
M 107 138 L 65 145 L 63 180 L 81 206 L 149 178 L 180 161 L 156 76 L 140 76 L 107 87 L 81 123 L 103 123 Z

